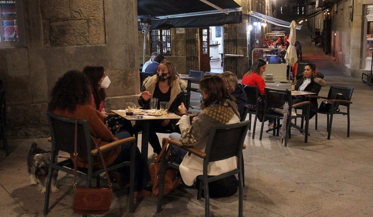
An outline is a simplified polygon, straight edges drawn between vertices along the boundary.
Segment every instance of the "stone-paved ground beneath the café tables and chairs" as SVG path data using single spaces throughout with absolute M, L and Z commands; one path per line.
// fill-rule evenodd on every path
M 373 89 L 359 79 L 348 77 L 335 67 L 333 59 L 310 48 L 307 29 L 298 38 L 303 45 L 303 59 L 316 63 L 325 74 L 327 86 L 354 87 L 351 105 L 351 135 L 347 137 L 347 117 L 333 119 L 331 139 L 327 140 L 326 117 L 319 115 L 318 130 L 310 121 L 308 143 L 304 135 L 292 130 L 288 147 L 281 139 L 263 134 L 259 140 L 249 131 L 244 150 L 245 184 L 244 216 L 373 216 Z M 297 32 L 298 33 L 298 32 Z M 302 36 L 303 35 L 303 36 Z M 306 37 L 307 36 L 307 37 Z M 269 83 L 268 86 L 274 86 Z M 282 83 L 282 88 L 290 84 Z M 199 94 L 192 94 L 192 106 L 198 107 Z M 167 134 L 159 134 L 159 138 Z M 34 139 L 9 141 L 10 156 L 0 150 L 0 216 L 43 216 L 44 194 L 29 185 L 26 155 Z M 46 138 L 36 139 L 50 149 Z M 153 153 L 149 149 L 149 153 Z M 153 155 L 149 155 L 151 162 Z M 101 179 L 105 181 L 104 177 Z M 84 184 L 84 182 L 81 182 Z M 72 176 L 59 173 L 59 192 L 51 193 L 48 216 L 73 216 Z M 156 197 L 138 202 L 134 214 L 128 213 L 126 190 L 114 188 L 112 207 L 107 216 L 203 216 L 204 200 L 197 200 L 197 190 L 179 186 L 166 196 L 162 213 L 156 214 Z M 210 200 L 212 216 L 237 216 L 238 194 Z

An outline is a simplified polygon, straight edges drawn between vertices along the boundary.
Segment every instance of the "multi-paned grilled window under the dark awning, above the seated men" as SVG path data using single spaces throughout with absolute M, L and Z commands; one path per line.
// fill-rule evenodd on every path
M 171 55 L 171 29 L 150 31 L 150 54 L 157 52 L 163 56 Z

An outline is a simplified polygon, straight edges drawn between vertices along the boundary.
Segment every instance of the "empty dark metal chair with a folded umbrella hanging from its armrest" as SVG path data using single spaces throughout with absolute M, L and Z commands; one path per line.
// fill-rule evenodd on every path
M 278 90 L 278 89 L 272 89 L 269 87 L 264 87 L 264 99 L 265 99 L 265 107 L 264 107 L 264 113 L 263 113 L 263 119 L 264 117 L 274 118 L 277 119 L 277 135 L 279 133 L 279 122 L 280 119 L 283 119 L 283 115 L 277 114 L 275 112 L 267 113 L 267 108 L 279 108 L 283 109 L 283 105 L 285 102 L 288 102 L 289 104 L 289 114 L 287 118 L 287 125 L 286 125 L 286 132 L 285 132 L 285 147 L 288 144 L 288 137 L 291 137 L 291 131 L 290 127 L 295 127 L 298 130 L 304 132 L 304 142 L 307 143 L 308 139 L 308 121 L 310 116 L 310 101 L 300 102 L 297 104 L 292 105 L 292 98 L 291 98 L 291 91 L 290 90 Z M 291 116 L 291 108 L 297 108 L 298 106 L 304 106 L 305 114 L 297 114 L 295 116 Z M 291 123 L 292 119 L 295 118 L 305 118 L 305 129 L 298 128 L 296 125 Z M 264 121 L 261 122 L 261 128 L 260 128 L 260 137 L 259 140 L 261 140 L 263 135 L 263 127 L 264 127 Z M 276 129 L 276 122 L 273 123 L 273 135 L 275 135 L 275 129 Z

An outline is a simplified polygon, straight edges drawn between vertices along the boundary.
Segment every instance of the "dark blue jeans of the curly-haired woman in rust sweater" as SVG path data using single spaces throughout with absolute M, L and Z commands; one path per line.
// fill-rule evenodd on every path
M 123 138 L 131 137 L 128 132 L 120 132 L 114 135 L 115 137 L 119 138 L 120 140 Z M 118 154 L 117 158 L 114 160 L 113 164 L 130 161 L 131 160 L 131 145 L 129 143 L 124 144 L 120 147 L 120 153 Z M 128 177 L 129 181 L 129 166 L 120 167 L 117 169 L 118 173 L 124 174 Z M 150 173 L 148 170 L 147 162 L 141 156 L 140 150 L 136 147 L 135 150 L 135 191 L 140 191 L 144 189 L 144 187 L 150 181 Z

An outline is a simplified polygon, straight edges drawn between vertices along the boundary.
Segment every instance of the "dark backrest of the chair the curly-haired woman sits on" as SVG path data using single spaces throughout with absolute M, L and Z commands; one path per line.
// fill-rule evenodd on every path
M 74 153 L 75 119 L 61 117 L 46 112 L 52 137 L 52 151 L 65 151 Z M 79 120 L 77 126 L 77 153 L 79 157 L 88 157 L 91 154 L 93 140 L 87 120 Z M 89 159 L 89 158 L 88 158 Z

